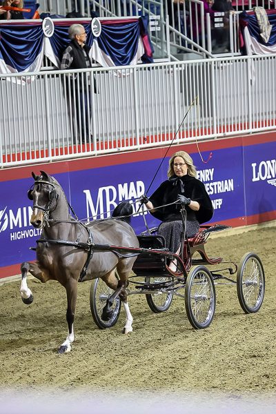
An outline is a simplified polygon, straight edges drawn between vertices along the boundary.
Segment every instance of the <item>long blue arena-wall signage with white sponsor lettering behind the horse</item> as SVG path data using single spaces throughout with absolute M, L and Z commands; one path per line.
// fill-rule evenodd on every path
M 215 208 L 212 222 L 276 209 L 275 143 L 214 150 L 208 163 L 198 153 L 191 155 L 197 177 L 204 182 Z M 203 159 L 208 155 L 203 152 Z M 54 175 L 83 221 L 109 217 L 120 201 L 130 200 L 136 213 L 132 226 L 139 234 L 146 230 L 144 219 L 148 227 L 158 226 L 159 221 L 149 213 L 143 216 L 136 200 L 149 186 L 151 195 L 167 179 L 168 159 L 160 168 L 161 159 L 153 159 Z M 36 245 L 40 232 L 30 224 L 32 201 L 27 197 L 33 182 L 32 177 L 0 182 L 0 267 L 35 259 L 29 248 Z

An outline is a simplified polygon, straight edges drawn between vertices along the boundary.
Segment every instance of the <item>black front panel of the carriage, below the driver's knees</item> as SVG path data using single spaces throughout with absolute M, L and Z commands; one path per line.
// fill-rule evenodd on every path
M 165 239 L 161 235 L 139 235 L 139 246 L 141 248 L 165 249 Z M 137 256 L 132 271 L 137 276 L 163 275 L 166 273 L 166 257 L 155 253 L 141 253 Z

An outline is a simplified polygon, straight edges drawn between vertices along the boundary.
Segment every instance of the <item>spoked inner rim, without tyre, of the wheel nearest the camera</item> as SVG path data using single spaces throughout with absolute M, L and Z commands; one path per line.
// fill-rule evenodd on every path
M 210 323 L 215 312 L 215 294 L 210 277 L 204 271 L 198 272 L 190 287 L 190 306 L 198 324 Z

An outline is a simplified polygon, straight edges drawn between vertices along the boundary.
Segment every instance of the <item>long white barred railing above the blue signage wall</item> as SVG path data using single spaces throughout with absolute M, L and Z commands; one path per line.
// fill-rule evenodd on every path
M 0 75 L 0 167 L 274 130 L 275 59 Z

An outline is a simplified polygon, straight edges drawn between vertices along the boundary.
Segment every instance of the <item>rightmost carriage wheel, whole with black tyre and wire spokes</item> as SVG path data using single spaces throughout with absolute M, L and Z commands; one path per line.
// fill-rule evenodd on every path
M 259 311 L 264 300 L 265 279 L 261 259 L 246 253 L 237 268 L 237 297 L 245 313 Z

